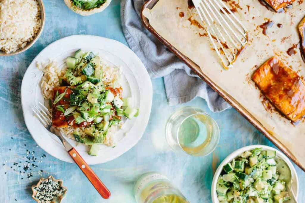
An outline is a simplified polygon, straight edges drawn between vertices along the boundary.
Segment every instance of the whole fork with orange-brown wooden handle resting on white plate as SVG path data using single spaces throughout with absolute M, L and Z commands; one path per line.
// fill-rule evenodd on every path
M 38 118 L 40 123 L 52 134 L 55 134 L 60 141 L 63 143 L 66 151 L 69 153 L 71 158 L 77 164 L 77 166 L 81 169 L 81 171 L 85 174 L 91 184 L 95 187 L 95 189 L 99 192 L 99 194 L 104 199 L 108 199 L 110 197 L 110 191 L 107 187 L 102 183 L 99 177 L 94 173 L 94 171 L 88 166 L 85 160 L 81 157 L 81 155 L 76 151 L 72 145 L 63 137 L 62 133 L 56 128 L 52 127 L 52 115 L 49 110 L 40 102 L 31 107 L 35 116 Z

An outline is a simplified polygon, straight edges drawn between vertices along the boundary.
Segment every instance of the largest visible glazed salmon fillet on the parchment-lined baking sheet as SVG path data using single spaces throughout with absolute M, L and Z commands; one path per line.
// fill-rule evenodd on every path
M 252 80 L 264 96 L 293 122 L 305 115 L 305 83 L 291 68 L 273 57 L 258 68 Z

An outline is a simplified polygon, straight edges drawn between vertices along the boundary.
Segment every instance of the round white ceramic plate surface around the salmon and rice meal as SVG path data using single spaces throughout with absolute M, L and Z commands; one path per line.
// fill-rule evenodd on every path
M 57 159 L 74 163 L 60 140 L 49 133 L 33 116 L 31 107 L 38 101 L 44 102 L 40 88 L 42 71 L 36 67 L 36 62 L 45 63 L 51 59 L 62 67 L 66 58 L 80 48 L 98 53 L 113 65 L 121 66 L 123 96 L 131 96 L 134 107 L 138 107 L 140 112 L 138 117 L 125 121 L 122 129 L 117 132 L 116 146 L 112 148 L 101 145 L 98 156 L 89 156 L 88 147 L 68 139 L 88 164 L 105 163 L 127 152 L 141 139 L 152 105 L 152 83 L 149 75 L 137 55 L 124 44 L 104 37 L 73 35 L 48 45 L 36 56 L 24 74 L 21 85 L 23 116 L 30 134 L 42 149 Z

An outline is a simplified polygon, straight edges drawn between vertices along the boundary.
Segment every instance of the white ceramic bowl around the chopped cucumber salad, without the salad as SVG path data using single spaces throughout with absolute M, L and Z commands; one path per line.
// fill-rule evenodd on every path
M 292 178 L 292 190 L 293 190 L 294 194 L 296 195 L 296 198 L 298 197 L 298 192 L 299 192 L 298 175 L 296 174 L 296 170 L 294 169 L 290 160 L 282 152 L 278 151 L 277 149 L 274 149 L 273 147 L 269 147 L 266 145 L 249 145 L 249 146 L 237 149 L 235 152 L 231 153 L 218 166 L 218 168 L 214 174 L 213 181 L 212 181 L 212 187 L 211 187 L 211 196 L 212 196 L 213 203 L 219 203 L 219 200 L 217 199 L 217 193 L 216 193 L 216 184 L 217 184 L 218 177 L 221 174 L 221 171 L 222 171 L 222 168 L 224 167 L 224 165 L 231 162 L 235 157 L 239 156 L 242 152 L 249 151 L 254 148 L 262 148 L 263 150 L 274 150 L 274 151 L 276 151 L 276 157 L 284 160 L 287 163 L 290 170 L 292 171 L 292 177 L 291 177 Z M 287 203 L 289 203 L 289 202 L 290 201 L 287 201 Z

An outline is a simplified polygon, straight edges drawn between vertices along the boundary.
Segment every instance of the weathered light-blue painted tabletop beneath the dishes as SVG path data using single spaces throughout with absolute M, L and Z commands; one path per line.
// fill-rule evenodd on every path
M 34 57 L 48 44 L 62 37 L 91 34 L 127 44 L 120 24 L 120 1 L 113 0 L 104 12 L 88 17 L 70 11 L 63 0 L 44 0 L 44 3 L 46 24 L 38 42 L 22 54 L 0 58 L 1 202 L 34 202 L 30 197 L 30 187 L 37 183 L 40 178 L 38 171 L 42 170 L 43 177 L 53 175 L 64 180 L 68 192 L 63 202 L 132 203 L 135 202 L 133 186 L 137 177 L 148 171 L 157 171 L 169 177 L 190 202 L 209 203 L 213 172 L 229 153 L 251 144 L 274 146 L 233 109 L 212 113 L 201 98 L 185 105 L 168 106 L 163 79 L 155 79 L 152 80 L 152 112 L 142 139 L 119 158 L 92 166 L 112 192 L 109 200 L 103 200 L 75 164 L 64 163 L 48 154 L 41 159 L 45 152 L 36 146 L 23 121 L 20 86 L 24 72 Z M 164 138 L 165 123 L 170 114 L 186 105 L 206 110 L 219 124 L 221 139 L 213 154 L 196 158 L 178 156 L 169 150 Z M 37 167 L 32 166 L 26 172 L 33 171 L 30 179 L 26 173 L 21 175 L 19 172 L 23 171 L 23 163 L 27 160 L 24 158 L 28 157 L 27 149 L 31 153 L 35 151 L 34 158 L 37 158 L 33 162 Z M 14 162 L 21 167 L 14 166 Z M 303 202 L 305 173 L 297 166 L 296 171 L 300 181 L 299 201 Z

